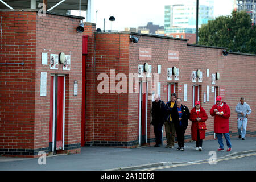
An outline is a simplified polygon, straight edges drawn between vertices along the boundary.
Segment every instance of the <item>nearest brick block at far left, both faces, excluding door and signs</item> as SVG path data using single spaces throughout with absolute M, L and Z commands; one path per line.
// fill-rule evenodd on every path
M 0 149 L 1 154 L 34 156 L 48 152 L 51 73 L 66 75 L 65 146 L 80 148 L 82 34 L 80 20 L 36 11 L 0 11 L 2 38 L 0 63 Z M 41 53 L 48 52 L 48 65 Z M 49 54 L 71 55 L 71 71 L 49 69 Z M 40 96 L 40 73 L 47 72 L 47 96 Z M 73 81 L 79 83 L 73 96 Z M 79 149 L 80 150 L 80 149 Z

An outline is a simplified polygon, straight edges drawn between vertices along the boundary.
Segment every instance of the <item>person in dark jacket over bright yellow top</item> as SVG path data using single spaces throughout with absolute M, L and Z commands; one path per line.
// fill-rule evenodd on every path
M 166 140 L 167 145 L 166 148 L 174 148 L 174 141 L 175 141 L 175 127 L 173 120 L 179 118 L 177 113 L 174 112 L 175 108 L 177 109 L 176 103 L 177 94 L 171 94 L 171 101 L 167 102 L 166 104 L 166 119 L 164 121 L 164 126 L 166 128 Z

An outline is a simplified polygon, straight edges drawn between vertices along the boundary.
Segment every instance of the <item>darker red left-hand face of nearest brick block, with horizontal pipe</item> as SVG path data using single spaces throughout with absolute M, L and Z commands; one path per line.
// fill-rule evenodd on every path
M 34 148 L 36 13 L 0 11 L 0 148 Z M 16 151 L 15 151 L 16 152 Z M 11 154 L 11 153 L 10 153 Z

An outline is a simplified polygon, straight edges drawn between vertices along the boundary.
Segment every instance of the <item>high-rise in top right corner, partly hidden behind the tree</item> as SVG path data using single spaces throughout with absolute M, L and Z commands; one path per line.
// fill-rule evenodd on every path
M 256 23 L 256 1 L 255 0 L 234 0 L 234 9 L 246 11 L 251 16 L 251 22 Z

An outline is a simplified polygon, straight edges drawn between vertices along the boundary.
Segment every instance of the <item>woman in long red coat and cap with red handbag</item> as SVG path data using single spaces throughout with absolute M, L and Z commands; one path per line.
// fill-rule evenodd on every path
M 195 107 L 191 110 L 190 118 L 192 121 L 191 135 L 192 140 L 196 141 L 196 150 L 202 151 L 203 139 L 205 138 L 205 130 L 199 129 L 199 122 L 205 122 L 208 119 L 207 113 L 201 107 L 200 101 L 195 102 Z

